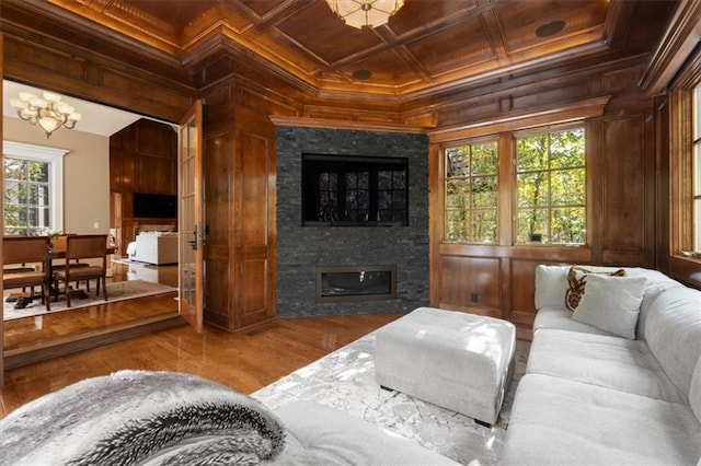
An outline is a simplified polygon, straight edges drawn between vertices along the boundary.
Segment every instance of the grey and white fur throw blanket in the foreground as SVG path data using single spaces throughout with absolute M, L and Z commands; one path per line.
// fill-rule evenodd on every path
M 88 378 L 0 421 L 2 465 L 255 465 L 284 445 L 255 399 L 172 372 Z

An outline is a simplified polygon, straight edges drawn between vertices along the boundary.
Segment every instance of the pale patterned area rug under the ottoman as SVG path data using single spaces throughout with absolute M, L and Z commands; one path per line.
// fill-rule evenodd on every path
M 381 426 L 453 461 L 497 465 L 518 381 L 526 371 L 528 342 L 518 341 L 514 381 L 496 424 L 381 389 L 375 381 L 375 333 L 261 388 L 252 396 L 275 409 L 291 400 L 314 400 Z

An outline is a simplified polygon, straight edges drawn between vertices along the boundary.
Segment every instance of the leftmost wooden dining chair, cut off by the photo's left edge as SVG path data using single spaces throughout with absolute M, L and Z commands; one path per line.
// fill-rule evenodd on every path
M 2 238 L 2 289 L 42 287 L 42 301 L 50 311 L 49 280 L 47 267 L 48 236 L 4 236 Z M 35 264 L 35 267 L 27 267 Z

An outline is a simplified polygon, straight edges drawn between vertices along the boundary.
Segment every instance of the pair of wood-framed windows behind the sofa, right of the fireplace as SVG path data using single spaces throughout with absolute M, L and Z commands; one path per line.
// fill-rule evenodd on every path
M 444 241 L 585 244 L 584 125 L 506 131 L 498 138 L 445 147 Z M 499 149 L 509 156 L 499 156 Z M 509 174 L 509 186 L 499 173 Z M 499 199 L 499 185 L 502 195 L 510 194 L 506 199 Z M 499 209 L 513 212 L 513 225 L 499 228 L 499 219 L 508 217 Z

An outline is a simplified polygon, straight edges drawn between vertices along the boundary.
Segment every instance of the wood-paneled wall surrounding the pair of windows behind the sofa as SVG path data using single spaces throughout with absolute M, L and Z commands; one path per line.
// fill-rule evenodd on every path
M 475 96 L 472 104 L 463 102 L 460 124 L 455 124 L 453 108 L 448 109 L 449 116 L 438 117 L 448 118 L 453 125 L 432 136 L 432 305 L 509 319 L 517 325 L 520 338 L 529 338 L 536 312 L 537 265 L 655 266 L 654 102 L 630 85 L 640 71 L 636 63 L 628 63 L 623 69 L 599 67 L 589 73 L 568 77 L 558 91 L 542 83 L 531 84 L 527 92 L 520 85 L 514 89 L 515 93 L 526 92 L 528 98 L 512 96 L 508 89 L 502 89 L 495 95 Z M 571 102 L 594 102 L 605 95 L 610 95 L 610 100 L 598 115 L 596 112 L 587 115 L 584 109 L 568 106 Z M 472 108 L 476 108 L 474 120 L 470 119 Z M 513 245 L 512 212 L 501 212 L 498 244 L 441 241 L 444 144 L 471 136 L 499 135 L 520 127 L 573 120 L 577 119 L 577 113 L 587 131 L 586 245 Z M 508 152 L 502 156 L 510 159 L 510 142 L 503 141 L 499 147 Z M 513 176 L 513 173 L 501 174 L 501 184 L 506 187 L 501 186 L 499 196 L 514 195 L 508 188 Z

